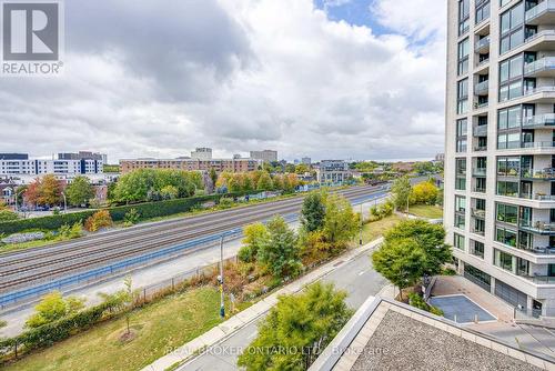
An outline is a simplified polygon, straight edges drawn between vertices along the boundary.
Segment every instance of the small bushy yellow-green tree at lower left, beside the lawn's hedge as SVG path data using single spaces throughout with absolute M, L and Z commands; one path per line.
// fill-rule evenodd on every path
M 33 329 L 60 320 L 79 312 L 84 307 L 84 300 L 75 297 L 63 299 L 60 291 L 52 291 L 34 307 L 36 313 L 26 322 L 26 327 Z

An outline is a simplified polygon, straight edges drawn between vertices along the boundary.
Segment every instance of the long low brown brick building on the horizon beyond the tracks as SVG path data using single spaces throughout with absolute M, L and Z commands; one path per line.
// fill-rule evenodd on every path
M 188 171 L 210 171 L 218 173 L 254 171 L 262 161 L 253 159 L 128 159 L 120 160 L 121 173 L 138 169 L 176 169 Z

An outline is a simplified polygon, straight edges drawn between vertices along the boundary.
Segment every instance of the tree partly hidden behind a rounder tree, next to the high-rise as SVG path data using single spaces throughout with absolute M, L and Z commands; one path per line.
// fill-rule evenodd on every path
M 384 240 L 395 241 L 411 239 L 423 250 L 425 261 L 422 274 L 435 275 L 442 265 L 452 259 L 451 247 L 445 243 L 445 229 L 441 224 L 432 224 L 425 220 L 405 220 L 385 232 Z

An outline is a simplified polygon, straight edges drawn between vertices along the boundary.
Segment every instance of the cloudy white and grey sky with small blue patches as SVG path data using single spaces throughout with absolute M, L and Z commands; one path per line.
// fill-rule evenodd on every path
M 65 73 L 0 80 L 0 152 L 443 151 L 445 0 L 71 0 Z

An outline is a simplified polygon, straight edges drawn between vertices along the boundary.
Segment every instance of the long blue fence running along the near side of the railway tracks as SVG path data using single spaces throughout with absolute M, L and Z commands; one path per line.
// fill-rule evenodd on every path
M 285 221 L 292 222 L 297 218 L 297 214 L 290 214 L 284 217 Z M 236 238 L 240 238 L 243 234 L 242 228 L 235 228 L 230 231 L 225 231 L 218 234 L 212 234 L 209 237 L 195 239 L 188 241 L 182 244 L 178 244 L 171 248 L 153 251 L 143 255 L 130 258 L 127 260 L 122 260 L 115 263 L 111 263 L 105 267 L 97 268 L 87 272 L 78 273 L 74 275 L 70 275 L 63 279 L 56 280 L 53 282 L 42 283 L 37 287 L 32 287 L 29 289 L 16 291 L 9 294 L 0 295 L 0 309 L 6 309 L 9 304 L 14 304 L 20 302 L 23 299 L 32 299 L 41 297 L 44 293 L 48 293 L 52 290 L 61 290 L 67 287 L 74 287 L 82 283 L 91 283 L 93 281 L 98 281 L 100 278 L 112 275 L 114 273 L 119 273 L 124 269 L 131 267 L 139 267 L 145 264 L 152 260 L 161 260 L 161 258 L 171 257 L 178 252 L 182 252 L 184 250 L 191 250 L 193 248 L 199 248 L 202 245 L 211 245 L 220 241 L 221 238 L 230 241 Z

